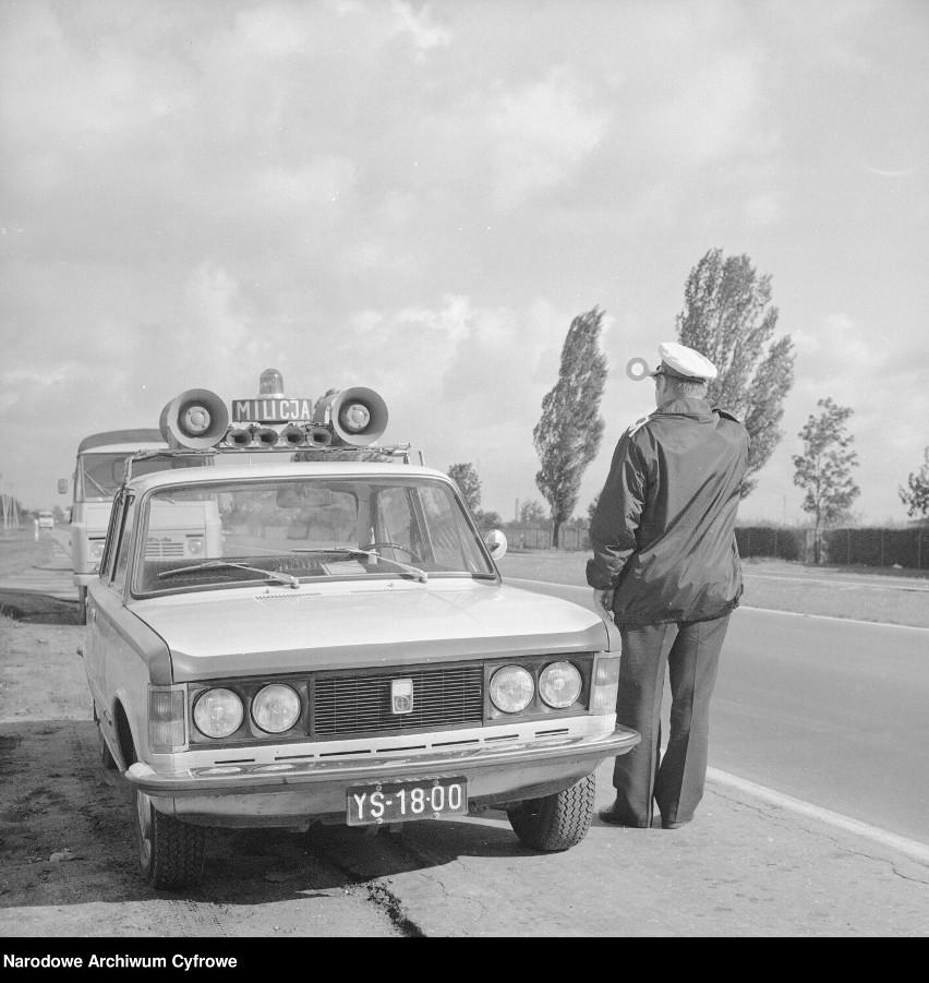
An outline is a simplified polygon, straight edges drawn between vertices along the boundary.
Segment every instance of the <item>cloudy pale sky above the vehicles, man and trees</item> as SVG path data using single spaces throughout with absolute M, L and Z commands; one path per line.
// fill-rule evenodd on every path
M 710 249 L 796 350 L 743 520 L 798 522 L 798 433 L 853 408 L 861 522 L 929 445 L 925 0 L 0 0 L 0 491 L 188 388 L 364 385 L 481 507 L 605 311 L 599 492 Z

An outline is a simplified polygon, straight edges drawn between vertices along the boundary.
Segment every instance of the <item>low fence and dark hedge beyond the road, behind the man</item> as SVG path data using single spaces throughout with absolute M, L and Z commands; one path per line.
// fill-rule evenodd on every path
M 552 530 L 535 526 L 506 526 L 512 549 L 550 550 Z M 739 526 L 740 556 L 767 556 L 812 563 L 813 530 L 789 526 Z M 563 550 L 589 550 L 587 529 L 562 528 Z M 843 566 L 903 566 L 929 570 L 929 527 L 904 529 L 825 529 L 820 534 L 821 562 Z

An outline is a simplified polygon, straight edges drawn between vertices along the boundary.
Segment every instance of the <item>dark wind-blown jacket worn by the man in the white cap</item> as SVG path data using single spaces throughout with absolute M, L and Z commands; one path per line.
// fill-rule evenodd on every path
M 616 588 L 617 624 L 708 621 L 741 595 L 735 541 L 745 427 L 704 399 L 674 399 L 616 445 L 587 579 Z

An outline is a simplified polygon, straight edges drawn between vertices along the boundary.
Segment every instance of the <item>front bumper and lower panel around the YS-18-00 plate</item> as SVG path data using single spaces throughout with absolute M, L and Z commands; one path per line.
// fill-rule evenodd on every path
M 289 762 L 156 771 L 136 763 L 125 778 L 159 812 L 208 825 L 297 825 L 345 814 L 346 789 L 364 782 L 463 777 L 472 805 L 539 798 L 569 788 L 641 736 L 617 726 L 568 735 L 364 760 Z

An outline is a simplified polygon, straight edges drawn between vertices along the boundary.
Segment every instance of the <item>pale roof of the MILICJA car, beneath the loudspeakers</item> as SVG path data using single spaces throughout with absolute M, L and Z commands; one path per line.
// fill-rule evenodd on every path
M 260 452 L 261 453 L 261 452 Z M 214 481 L 243 481 L 262 478 L 438 478 L 450 483 L 451 479 L 435 468 L 420 465 L 393 464 L 371 460 L 283 461 L 254 460 L 251 463 L 221 461 L 214 467 L 177 468 L 140 475 L 130 482 L 137 492 L 176 484 L 201 484 Z

